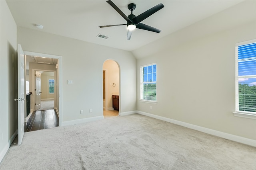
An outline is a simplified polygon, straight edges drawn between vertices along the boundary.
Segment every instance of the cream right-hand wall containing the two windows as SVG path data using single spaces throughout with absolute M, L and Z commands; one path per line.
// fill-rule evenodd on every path
M 256 38 L 255 1 L 249 5 L 254 7 L 247 6 L 242 10 L 252 9 L 250 13 L 254 20 L 225 29 L 214 25 L 217 31 L 186 41 L 187 35 L 198 35 L 207 29 L 204 25 L 216 18 L 221 22 L 220 14 L 217 14 L 173 33 L 163 40 L 169 40 L 169 46 L 138 59 L 137 82 L 140 82 L 140 66 L 157 64 L 157 104 L 139 101 L 140 86 L 137 83 L 138 111 L 256 140 L 256 120 L 235 117 L 232 113 L 235 111 L 235 43 Z M 233 18 L 235 20 L 236 16 Z M 172 44 L 174 37 L 176 44 Z M 146 45 L 135 53 L 153 45 Z

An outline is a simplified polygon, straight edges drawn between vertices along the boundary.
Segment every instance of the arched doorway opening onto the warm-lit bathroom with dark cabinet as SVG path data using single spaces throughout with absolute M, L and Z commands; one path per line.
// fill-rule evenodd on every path
M 117 116 L 120 109 L 120 69 L 116 61 L 106 60 L 103 63 L 102 82 L 103 115 Z

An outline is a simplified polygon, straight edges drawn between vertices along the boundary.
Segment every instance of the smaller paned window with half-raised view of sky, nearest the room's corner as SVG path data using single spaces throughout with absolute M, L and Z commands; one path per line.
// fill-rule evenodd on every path
M 156 64 L 140 67 L 140 100 L 156 102 Z

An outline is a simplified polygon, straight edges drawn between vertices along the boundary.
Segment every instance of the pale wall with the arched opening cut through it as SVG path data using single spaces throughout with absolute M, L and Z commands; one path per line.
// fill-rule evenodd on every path
M 62 56 L 63 121 L 103 115 L 102 66 L 107 59 L 120 66 L 120 111 L 136 110 L 136 59 L 130 52 L 23 27 L 18 27 L 18 43 L 24 51 Z

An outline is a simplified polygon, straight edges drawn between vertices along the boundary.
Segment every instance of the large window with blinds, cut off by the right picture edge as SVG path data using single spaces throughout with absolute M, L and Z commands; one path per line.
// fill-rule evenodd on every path
M 236 44 L 236 112 L 256 115 L 256 39 Z

